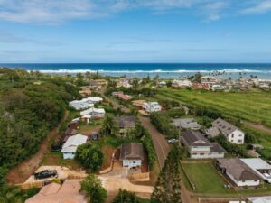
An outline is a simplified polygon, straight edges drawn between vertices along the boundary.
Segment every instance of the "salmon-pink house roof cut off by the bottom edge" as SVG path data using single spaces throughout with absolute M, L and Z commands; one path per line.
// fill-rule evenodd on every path
M 65 180 L 62 185 L 52 182 L 25 203 L 87 203 L 85 196 L 79 192 L 80 188 L 80 180 Z

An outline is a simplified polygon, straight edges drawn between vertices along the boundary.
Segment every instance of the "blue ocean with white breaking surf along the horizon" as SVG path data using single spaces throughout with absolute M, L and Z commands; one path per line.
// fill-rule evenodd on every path
M 39 70 L 44 73 L 76 74 L 87 71 L 96 72 L 104 76 L 127 77 L 155 77 L 180 78 L 201 72 L 203 75 L 217 74 L 219 71 L 223 78 L 243 78 L 257 75 L 258 78 L 271 79 L 271 64 L 234 64 L 234 63 L 31 63 L 31 64 L 0 64 L 0 67 Z

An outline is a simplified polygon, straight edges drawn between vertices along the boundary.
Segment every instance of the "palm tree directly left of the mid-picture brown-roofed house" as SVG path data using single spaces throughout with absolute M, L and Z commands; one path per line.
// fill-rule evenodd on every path
M 117 135 L 118 127 L 112 115 L 106 115 L 100 130 L 103 135 Z

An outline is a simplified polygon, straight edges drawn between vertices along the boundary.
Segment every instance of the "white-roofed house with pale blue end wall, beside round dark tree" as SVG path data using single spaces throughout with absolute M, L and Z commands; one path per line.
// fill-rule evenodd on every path
M 66 143 L 63 144 L 61 153 L 63 153 L 63 159 L 73 159 L 77 147 L 83 143 L 87 143 L 88 136 L 82 134 L 76 134 L 70 136 Z

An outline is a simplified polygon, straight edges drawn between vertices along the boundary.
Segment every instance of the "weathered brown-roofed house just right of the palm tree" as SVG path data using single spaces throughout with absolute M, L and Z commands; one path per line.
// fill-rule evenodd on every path
M 135 115 L 122 115 L 115 117 L 119 132 L 119 136 L 126 136 L 135 129 Z

